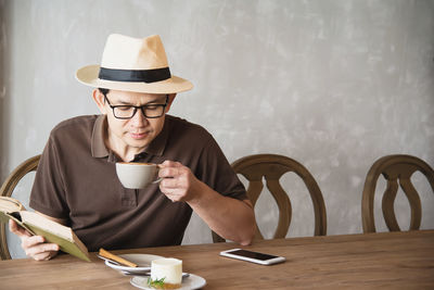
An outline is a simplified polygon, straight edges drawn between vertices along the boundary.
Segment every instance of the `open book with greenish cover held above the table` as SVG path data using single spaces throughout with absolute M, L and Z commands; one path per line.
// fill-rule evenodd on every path
M 8 223 L 10 218 L 30 234 L 42 236 L 47 242 L 59 244 L 61 251 L 90 262 L 88 249 L 69 227 L 26 211 L 16 199 L 0 197 L 0 222 Z

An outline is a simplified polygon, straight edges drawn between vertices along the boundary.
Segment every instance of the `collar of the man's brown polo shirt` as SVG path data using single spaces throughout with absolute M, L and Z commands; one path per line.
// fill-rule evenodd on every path
M 153 154 L 157 156 L 163 155 L 168 140 L 169 123 L 170 123 L 170 117 L 166 115 L 162 131 L 154 140 L 151 141 L 151 143 L 143 150 L 142 153 Z M 104 136 L 106 134 L 106 130 L 107 130 L 106 116 L 99 115 L 93 125 L 93 131 L 92 131 L 91 153 L 93 157 L 106 157 L 111 155 L 110 150 L 105 147 L 104 143 Z

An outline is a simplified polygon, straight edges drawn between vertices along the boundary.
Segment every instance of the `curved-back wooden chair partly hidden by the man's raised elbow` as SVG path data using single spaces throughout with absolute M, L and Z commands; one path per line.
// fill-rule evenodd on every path
M 232 163 L 235 173 L 243 175 L 248 180 L 247 197 L 255 206 L 259 194 L 263 191 L 263 178 L 266 186 L 275 198 L 279 207 L 279 222 L 273 239 L 284 238 L 291 224 L 292 207 L 286 192 L 281 187 L 279 179 L 283 174 L 293 172 L 305 182 L 315 211 L 315 236 L 326 236 L 327 214 L 324 200 L 312 175 L 302 164 L 293 159 L 276 154 L 256 154 L 237 160 Z M 212 231 L 214 242 L 222 242 L 224 238 Z M 256 225 L 255 239 L 264 239 Z

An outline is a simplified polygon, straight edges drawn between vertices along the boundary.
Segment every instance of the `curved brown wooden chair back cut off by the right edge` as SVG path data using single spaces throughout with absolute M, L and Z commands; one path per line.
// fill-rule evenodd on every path
M 411 207 L 410 230 L 419 229 L 422 218 L 420 197 L 411 184 L 412 174 L 421 172 L 431 184 L 434 192 L 434 172 L 424 161 L 411 155 L 387 155 L 376 160 L 369 169 L 363 187 L 361 200 L 361 219 L 363 232 L 375 232 L 374 223 L 374 194 L 376 181 L 383 175 L 387 181 L 382 199 L 384 220 L 391 231 L 399 231 L 396 220 L 394 203 L 399 186 L 406 194 Z M 398 185 L 399 180 L 399 185 Z

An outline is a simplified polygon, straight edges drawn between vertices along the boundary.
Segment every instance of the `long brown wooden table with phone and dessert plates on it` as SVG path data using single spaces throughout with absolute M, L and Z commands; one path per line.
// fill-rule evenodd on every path
M 261 266 L 219 256 L 233 243 L 145 248 L 148 253 L 183 261 L 183 270 L 206 279 L 205 289 L 387 288 L 434 289 L 434 230 L 278 239 L 245 249 L 286 257 Z M 52 261 L 0 262 L 0 289 L 137 289 L 130 277 L 71 255 Z

